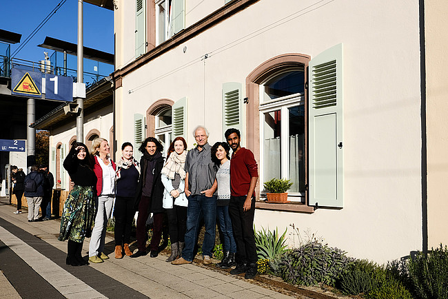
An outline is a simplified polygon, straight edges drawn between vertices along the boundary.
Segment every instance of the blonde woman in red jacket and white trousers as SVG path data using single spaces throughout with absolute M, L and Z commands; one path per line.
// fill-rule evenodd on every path
M 96 210 L 95 225 L 90 238 L 89 260 L 98 263 L 109 258 L 103 253 L 103 249 L 105 229 L 110 216 L 112 216 L 115 198 L 115 163 L 109 157 L 109 143 L 104 138 L 94 139 L 91 152 L 94 157 L 93 171 L 97 178 L 98 209 Z

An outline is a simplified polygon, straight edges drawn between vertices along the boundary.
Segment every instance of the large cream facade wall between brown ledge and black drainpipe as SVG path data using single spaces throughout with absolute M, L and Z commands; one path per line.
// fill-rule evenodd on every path
M 264 61 L 284 53 L 313 58 L 338 43 L 345 49 L 344 207 L 257 210 L 255 224 L 283 231 L 294 223 L 357 258 L 407 256 L 422 249 L 415 1 L 259 1 L 125 76 L 117 132 L 133 132 L 133 115 L 154 101 L 187 96 L 189 148 L 199 124 L 210 130 L 210 143 L 222 141 L 223 83 L 242 83 L 244 97 L 247 75 Z

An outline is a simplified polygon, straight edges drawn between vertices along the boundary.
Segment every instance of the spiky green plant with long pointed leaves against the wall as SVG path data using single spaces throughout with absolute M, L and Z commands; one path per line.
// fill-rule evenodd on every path
M 269 231 L 262 227 L 261 231 L 255 232 L 255 244 L 258 260 L 274 260 L 276 256 L 280 256 L 285 252 L 286 231 L 287 229 L 285 229 L 285 232 L 281 236 L 278 236 L 277 228 L 275 231 Z

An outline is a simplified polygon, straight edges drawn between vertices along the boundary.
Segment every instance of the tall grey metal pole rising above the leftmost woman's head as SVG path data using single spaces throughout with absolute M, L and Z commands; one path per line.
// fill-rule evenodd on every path
M 78 68 L 77 68 L 77 81 L 79 83 L 83 83 L 83 72 L 84 72 L 84 65 L 83 65 L 83 0 L 78 0 L 78 50 L 77 50 L 77 59 L 78 59 Z M 83 124 L 84 124 L 84 103 L 83 99 L 79 98 L 77 99 L 78 107 L 80 108 L 81 112 L 77 116 L 77 141 L 83 142 L 84 139 L 84 130 L 83 130 Z

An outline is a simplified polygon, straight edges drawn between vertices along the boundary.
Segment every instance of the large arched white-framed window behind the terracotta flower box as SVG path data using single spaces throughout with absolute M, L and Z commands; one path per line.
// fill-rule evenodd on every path
M 261 178 L 287 178 L 290 200 L 305 196 L 305 71 L 296 66 L 260 84 Z

